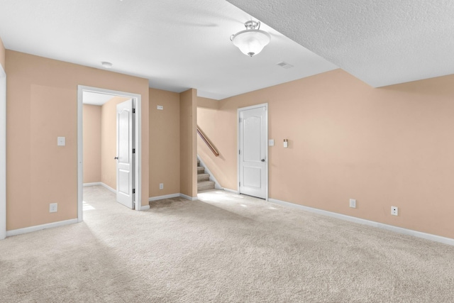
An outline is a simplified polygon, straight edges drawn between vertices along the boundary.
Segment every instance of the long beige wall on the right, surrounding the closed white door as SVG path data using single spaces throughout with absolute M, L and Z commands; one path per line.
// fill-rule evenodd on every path
M 454 238 L 453 82 L 375 89 L 334 70 L 231 97 L 197 110 L 221 156 L 200 144 L 199 154 L 221 186 L 236 189 L 236 111 L 268 103 L 270 198 Z

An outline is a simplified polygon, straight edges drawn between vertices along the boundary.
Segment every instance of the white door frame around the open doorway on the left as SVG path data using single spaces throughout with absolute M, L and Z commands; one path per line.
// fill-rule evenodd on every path
M 142 164 L 142 123 L 141 123 L 141 99 L 140 94 L 133 94 L 130 92 L 119 92 L 111 89 L 101 89 L 98 87 L 87 87 L 84 85 L 77 86 L 77 221 L 82 222 L 83 219 L 83 194 L 84 194 L 84 147 L 83 147 L 83 94 L 84 92 L 95 92 L 100 94 L 111 94 L 112 96 L 126 97 L 135 100 L 135 137 L 134 137 L 134 148 L 135 148 L 135 210 L 140 211 L 142 206 L 142 178 L 140 170 Z

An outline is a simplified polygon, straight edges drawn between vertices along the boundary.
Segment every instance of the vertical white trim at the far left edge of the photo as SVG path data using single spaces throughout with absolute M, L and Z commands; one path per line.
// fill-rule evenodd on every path
M 0 240 L 6 238 L 6 72 L 0 65 Z

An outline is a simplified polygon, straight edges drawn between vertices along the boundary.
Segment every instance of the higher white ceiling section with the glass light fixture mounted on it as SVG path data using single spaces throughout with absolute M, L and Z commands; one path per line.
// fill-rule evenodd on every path
M 0 37 L 9 50 L 96 68 L 108 61 L 150 87 L 213 99 L 337 68 L 264 23 L 270 45 L 243 55 L 229 38 L 251 18 L 224 0 L 1 0 Z

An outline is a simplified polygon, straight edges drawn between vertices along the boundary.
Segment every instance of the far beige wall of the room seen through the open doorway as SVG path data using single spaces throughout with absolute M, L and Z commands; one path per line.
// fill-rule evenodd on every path
M 101 106 L 84 104 L 84 183 L 101 182 Z

